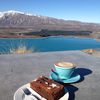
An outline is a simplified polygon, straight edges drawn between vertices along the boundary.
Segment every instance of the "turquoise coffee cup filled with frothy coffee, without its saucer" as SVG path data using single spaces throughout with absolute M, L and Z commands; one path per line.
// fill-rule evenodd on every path
M 71 62 L 58 62 L 54 66 L 61 79 L 69 79 L 75 70 L 75 64 Z

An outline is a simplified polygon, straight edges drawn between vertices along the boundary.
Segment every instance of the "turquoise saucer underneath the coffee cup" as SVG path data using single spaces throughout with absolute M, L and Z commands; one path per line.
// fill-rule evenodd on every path
M 74 83 L 80 80 L 81 76 L 79 74 L 74 74 L 72 75 L 69 79 L 59 79 L 57 74 L 51 73 L 50 78 L 57 81 L 57 82 L 62 82 L 62 83 Z

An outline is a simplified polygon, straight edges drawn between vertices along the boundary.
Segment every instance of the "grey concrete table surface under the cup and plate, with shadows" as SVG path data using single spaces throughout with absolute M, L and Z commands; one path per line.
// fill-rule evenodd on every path
M 0 55 L 0 100 L 13 100 L 14 92 L 40 75 L 49 76 L 57 61 L 76 63 L 81 81 L 65 84 L 69 100 L 100 99 L 100 58 L 81 51 Z

